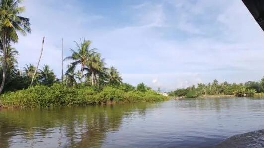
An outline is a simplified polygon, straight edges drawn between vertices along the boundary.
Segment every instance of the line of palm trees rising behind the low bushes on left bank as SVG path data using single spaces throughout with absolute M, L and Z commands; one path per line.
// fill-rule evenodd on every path
M 61 79 L 56 78 L 48 65 L 38 69 L 33 64 L 28 64 L 23 69 L 17 69 L 18 51 L 12 44 L 18 42 L 18 34 L 31 33 L 29 18 L 20 16 L 25 10 L 24 6 L 20 6 L 21 2 L 22 0 L 0 0 L 0 93 L 25 89 L 30 86 L 31 80 L 34 85 L 61 82 L 67 86 L 103 87 L 119 86 L 122 83 L 119 71 L 113 66 L 106 67 L 105 59 L 97 49 L 91 49 L 91 41 L 85 38 L 75 41 L 76 47 L 70 49 L 72 54 L 64 59 L 70 64 Z

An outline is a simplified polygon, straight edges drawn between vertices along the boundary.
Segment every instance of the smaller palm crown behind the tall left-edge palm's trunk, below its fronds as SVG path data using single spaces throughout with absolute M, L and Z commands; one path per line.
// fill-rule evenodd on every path
M 7 70 L 15 68 L 15 64 L 18 64 L 16 55 L 18 55 L 18 51 L 15 48 L 8 45 L 6 48 L 6 57 L 5 57 Z M 0 56 L 1 63 L 4 62 L 3 58 L 4 56 L 1 55 Z

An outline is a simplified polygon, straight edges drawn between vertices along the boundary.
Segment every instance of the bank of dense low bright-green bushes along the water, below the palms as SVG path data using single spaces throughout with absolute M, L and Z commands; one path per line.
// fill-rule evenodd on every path
M 92 87 L 68 87 L 61 84 L 38 85 L 28 89 L 8 92 L 0 96 L 2 108 L 34 108 L 109 103 L 154 102 L 169 99 L 153 90 L 146 92 L 124 91 L 106 86 L 100 91 Z

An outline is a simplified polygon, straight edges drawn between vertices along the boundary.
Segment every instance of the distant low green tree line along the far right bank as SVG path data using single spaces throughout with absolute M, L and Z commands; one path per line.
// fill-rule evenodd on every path
M 248 81 L 246 83 L 219 83 L 214 80 L 208 84 L 199 83 L 197 86 L 176 89 L 169 93 L 170 96 L 186 96 L 189 98 L 201 95 L 235 95 L 237 97 L 254 96 L 255 93 L 264 92 L 264 77 L 260 81 Z

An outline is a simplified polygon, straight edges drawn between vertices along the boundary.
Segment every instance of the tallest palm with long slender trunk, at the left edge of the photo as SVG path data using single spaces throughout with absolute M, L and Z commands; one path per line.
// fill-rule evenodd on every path
M 18 41 L 18 34 L 22 35 L 30 33 L 29 19 L 18 16 L 25 11 L 25 7 L 19 7 L 18 5 L 22 0 L 0 0 L 0 40 L 2 43 L 3 57 L 6 57 L 7 46 L 11 42 L 16 43 Z M 3 58 L 3 79 L 0 87 L 0 93 L 3 90 L 6 79 L 6 58 Z

